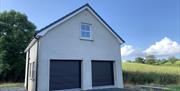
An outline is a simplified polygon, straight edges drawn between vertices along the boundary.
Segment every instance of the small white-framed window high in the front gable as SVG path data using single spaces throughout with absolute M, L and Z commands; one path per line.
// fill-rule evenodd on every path
M 91 39 L 91 24 L 81 23 L 81 39 Z

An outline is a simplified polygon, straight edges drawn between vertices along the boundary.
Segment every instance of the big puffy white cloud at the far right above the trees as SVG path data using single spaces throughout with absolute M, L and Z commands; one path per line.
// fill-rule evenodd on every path
M 171 39 L 165 37 L 161 41 L 156 42 L 151 45 L 145 51 L 146 54 L 153 54 L 156 56 L 171 56 L 180 54 L 180 44 L 176 41 L 172 41 Z

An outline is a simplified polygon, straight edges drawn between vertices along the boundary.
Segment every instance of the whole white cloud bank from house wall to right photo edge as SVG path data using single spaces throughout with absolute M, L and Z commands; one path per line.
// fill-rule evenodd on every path
M 124 45 L 121 48 L 122 59 L 134 59 L 136 57 L 145 57 L 145 55 L 155 55 L 157 57 L 168 57 L 168 56 L 177 56 L 180 55 L 180 44 L 176 41 L 165 37 L 162 40 L 154 43 L 149 46 L 149 48 L 139 50 L 132 45 Z

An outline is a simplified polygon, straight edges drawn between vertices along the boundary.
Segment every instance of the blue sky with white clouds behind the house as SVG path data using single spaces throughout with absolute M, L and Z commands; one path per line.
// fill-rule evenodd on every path
M 126 41 L 122 48 L 129 54 L 123 59 L 143 56 L 145 51 L 158 57 L 180 57 L 179 0 L 0 0 L 0 11 L 25 13 L 41 29 L 85 3 Z M 156 53 L 156 49 L 175 52 Z

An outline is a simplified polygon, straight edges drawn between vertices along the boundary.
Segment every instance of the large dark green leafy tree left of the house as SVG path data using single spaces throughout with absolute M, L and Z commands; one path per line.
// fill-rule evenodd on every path
M 0 13 L 0 80 L 24 79 L 24 49 L 35 29 L 25 14 L 14 10 Z

